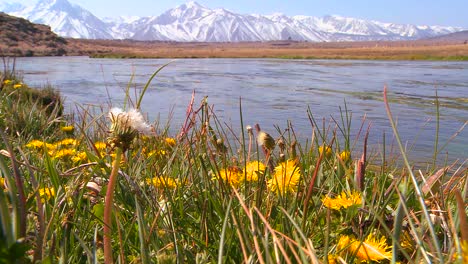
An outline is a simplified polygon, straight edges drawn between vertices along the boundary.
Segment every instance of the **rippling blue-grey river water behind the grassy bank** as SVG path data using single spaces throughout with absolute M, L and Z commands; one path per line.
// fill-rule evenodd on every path
M 165 59 L 91 59 L 88 57 L 20 58 L 16 68 L 35 87 L 52 85 L 75 105 L 121 106 L 125 88 L 141 89 Z M 150 119 L 178 130 L 192 92 L 196 105 L 208 96 L 219 119 L 240 129 L 259 123 L 275 129 L 291 121 L 300 140 L 311 138 L 307 110 L 322 123 L 340 122 L 345 101 L 352 115 L 352 135 L 365 117 L 371 125 L 370 144 L 377 146 L 392 130 L 382 91 L 388 87 L 391 110 L 403 142 L 417 159 L 431 157 L 436 131 L 436 92 L 440 101 L 440 146 L 468 120 L 468 63 L 431 61 L 352 61 L 280 59 L 180 59 L 172 61 L 153 80 L 143 103 Z M 134 91 L 134 89 L 132 89 Z M 334 126 L 332 126 L 333 129 Z M 468 158 L 468 128 L 441 151 L 450 160 Z M 362 135 L 361 139 L 362 142 Z M 358 144 L 359 145 L 359 144 Z M 376 147 L 377 148 L 377 147 Z M 389 148 L 390 149 L 390 148 Z M 377 151 L 377 150 L 376 150 Z

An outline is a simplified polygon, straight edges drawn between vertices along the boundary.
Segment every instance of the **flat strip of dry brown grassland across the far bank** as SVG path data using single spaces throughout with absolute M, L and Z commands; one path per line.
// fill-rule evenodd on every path
M 200 43 L 69 39 L 67 54 L 110 58 L 468 60 L 468 44 L 431 40 Z

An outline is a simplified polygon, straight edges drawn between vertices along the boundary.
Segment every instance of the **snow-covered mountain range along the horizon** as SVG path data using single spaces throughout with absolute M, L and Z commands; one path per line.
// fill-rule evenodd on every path
M 98 18 L 67 0 L 40 0 L 32 6 L 0 4 L 0 10 L 46 24 L 62 37 L 184 42 L 372 41 L 430 38 L 463 30 L 457 27 L 384 23 L 341 16 L 238 14 L 187 2 L 150 17 Z

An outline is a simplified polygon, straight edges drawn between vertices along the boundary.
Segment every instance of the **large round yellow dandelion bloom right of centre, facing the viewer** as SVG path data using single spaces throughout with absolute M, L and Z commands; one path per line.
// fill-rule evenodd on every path
M 275 167 L 273 178 L 268 181 L 268 188 L 276 194 L 285 195 L 289 192 L 296 192 L 301 171 L 297 161 L 287 160 Z

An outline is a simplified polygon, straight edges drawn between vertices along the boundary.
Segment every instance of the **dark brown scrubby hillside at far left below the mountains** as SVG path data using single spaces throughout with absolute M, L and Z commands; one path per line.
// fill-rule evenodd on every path
M 61 56 L 66 54 L 66 43 L 49 26 L 0 12 L 2 56 Z

